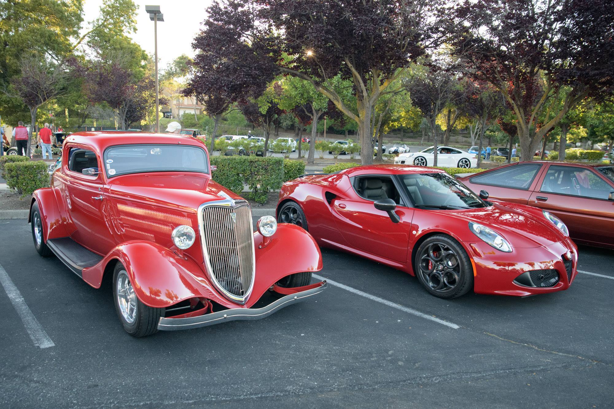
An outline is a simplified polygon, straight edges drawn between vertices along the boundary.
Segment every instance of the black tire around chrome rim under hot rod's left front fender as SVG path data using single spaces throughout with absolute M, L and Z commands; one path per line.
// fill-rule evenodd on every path
M 113 300 L 115 303 L 115 312 L 117 312 L 117 317 L 122 323 L 123 329 L 136 338 L 147 337 L 147 335 L 152 335 L 153 333 L 158 332 L 158 321 L 160 321 L 160 317 L 164 316 L 165 309 L 152 308 L 145 305 L 141 302 L 141 300 L 139 300 L 138 297 L 136 297 L 134 290 L 132 290 L 131 294 L 126 292 L 126 297 L 120 297 L 118 291 L 118 281 L 120 279 L 123 280 L 124 278 L 128 279 L 128 284 L 130 284 L 131 287 L 132 284 L 128 273 L 126 272 L 126 268 L 123 267 L 122 263 L 118 262 L 113 270 Z M 126 319 L 124 313 L 122 313 L 122 307 L 120 307 L 119 300 L 120 298 L 125 299 L 126 304 L 131 305 L 130 308 L 134 308 L 134 317 L 131 320 Z M 128 312 L 126 315 L 130 315 L 130 313 Z

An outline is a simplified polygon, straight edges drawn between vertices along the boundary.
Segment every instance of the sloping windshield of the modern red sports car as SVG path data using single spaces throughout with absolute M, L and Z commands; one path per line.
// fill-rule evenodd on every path
M 480 197 L 446 173 L 406 174 L 400 177 L 416 208 L 486 207 Z

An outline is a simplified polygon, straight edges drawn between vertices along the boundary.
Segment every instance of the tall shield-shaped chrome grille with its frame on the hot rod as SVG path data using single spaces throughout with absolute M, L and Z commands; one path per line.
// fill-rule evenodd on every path
M 249 205 L 204 204 L 200 217 L 203 256 L 213 283 L 227 298 L 244 303 L 254 285 L 254 234 Z

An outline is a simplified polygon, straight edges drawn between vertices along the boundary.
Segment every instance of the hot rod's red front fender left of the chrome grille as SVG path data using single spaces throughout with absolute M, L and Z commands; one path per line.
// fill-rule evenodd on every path
M 113 260 L 119 260 L 126 267 L 136 296 L 150 307 L 162 308 L 192 297 L 232 305 L 217 294 L 198 263 L 182 259 L 168 248 L 150 241 L 120 244 L 98 264 L 84 268 L 83 279 L 99 288 L 106 266 Z M 107 273 L 112 274 L 111 271 Z

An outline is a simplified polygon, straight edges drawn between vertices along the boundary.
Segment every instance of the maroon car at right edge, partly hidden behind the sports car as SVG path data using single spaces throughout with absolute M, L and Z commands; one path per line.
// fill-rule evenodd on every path
M 459 177 L 474 192 L 559 217 L 581 244 L 614 249 L 614 166 L 532 161 Z

